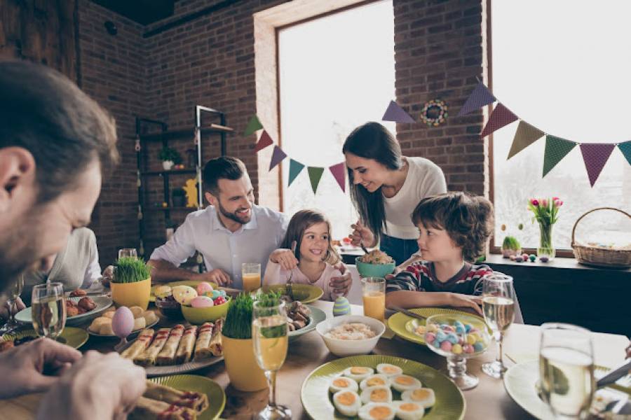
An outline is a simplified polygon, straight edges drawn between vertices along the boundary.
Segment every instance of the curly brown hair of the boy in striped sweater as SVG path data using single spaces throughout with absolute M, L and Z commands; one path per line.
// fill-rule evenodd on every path
M 462 258 L 473 262 L 484 253 L 493 229 L 493 204 L 468 193 L 445 193 L 425 197 L 412 213 L 412 223 L 447 230 Z

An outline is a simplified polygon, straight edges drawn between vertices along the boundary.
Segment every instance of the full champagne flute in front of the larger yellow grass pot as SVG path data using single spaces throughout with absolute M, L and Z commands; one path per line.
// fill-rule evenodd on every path
M 276 405 L 276 372 L 287 357 L 287 311 L 285 302 L 273 306 L 255 302 L 252 308 L 252 340 L 257 363 L 265 371 L 269 385 L 269 402 L 255 416 L 259 420 L 291 419 L 292 412 Z

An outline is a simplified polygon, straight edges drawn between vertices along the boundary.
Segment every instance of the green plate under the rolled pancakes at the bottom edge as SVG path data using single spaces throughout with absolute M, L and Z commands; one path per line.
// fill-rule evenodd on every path
M 208 396 L 208 408 L 197 416 L 198 420 L 215 420 L 224 411 L 226 394 L 222 387 L 210 378 L 194 374 L 174 374 L 149 380 L 156 384 L 171 386 L 179 391 L 205 393 Z

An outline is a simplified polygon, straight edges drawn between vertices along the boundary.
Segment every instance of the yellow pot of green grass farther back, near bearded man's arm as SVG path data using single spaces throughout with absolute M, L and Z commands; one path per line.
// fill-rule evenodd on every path
M 151 295 L 151 267 L 136 257 L 118 258 L 110 287 L 111 300 L 116 306 L 147 309 Z

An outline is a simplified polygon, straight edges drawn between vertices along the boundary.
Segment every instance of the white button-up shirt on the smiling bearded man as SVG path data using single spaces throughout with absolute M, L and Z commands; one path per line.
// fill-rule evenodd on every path
M 194 211 L 177 228 L 172 239 L 151 253 L 151 260 L 165 260 L 179 267 L 199 251 L 208 271 L 223 269 L 234 288 L 243 288 L 241 265 L 259 262 L 265 272 L 269 255 L 285 238 L 289 218 L 267 207 L 252 206 L 250 222 L 236 232 L 222 225 L 215 207 Z

